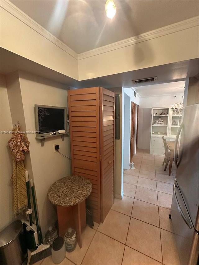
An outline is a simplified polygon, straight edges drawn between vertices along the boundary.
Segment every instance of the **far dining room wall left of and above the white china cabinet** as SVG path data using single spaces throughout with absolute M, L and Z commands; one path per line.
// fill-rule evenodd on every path
M 182 93 L 140 98 L 138 114 L 138 148 L 150 149 L 151 115 L 153 107 L 171 107 L 175 102 L 183 102 Z

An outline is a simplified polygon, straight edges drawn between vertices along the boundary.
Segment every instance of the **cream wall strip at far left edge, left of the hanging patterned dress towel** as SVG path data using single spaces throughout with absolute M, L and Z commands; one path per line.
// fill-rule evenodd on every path
M 11 131 L 13 128 L 12 117 L 8 102 L 7 87 L 4 75 L 0 75 L 0 231 L 12 223 L 13 214 L 13 188 L 10 182 L 12 176 L 12 158 L 8 147 L 8 140 L 12 134 L 4 134 L 3 131 Z

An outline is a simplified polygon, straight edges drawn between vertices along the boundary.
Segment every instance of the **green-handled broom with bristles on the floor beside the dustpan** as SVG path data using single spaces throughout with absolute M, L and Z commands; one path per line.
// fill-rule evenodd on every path
M 36 226 L 37 226 L 37 234 L 38 234 L 38 241 L 39 241 L 39 246 L 38 248 L 31 252 L 31 258 L 30 258 L 30 265 L 34 264 L 35 262 L 46 258 L 51 255 L 51 247 L 50 245 L 43 245 L 41 244 L 41 238 L 39 235 L 39 222 L 38 222 L 38 217 L 37 217 L 37 208 L 36 208 L 36 202 L 35 202 L 35 192 L 34 192 L 34 184 L 33 180 L 30 180 L 30 185 L 31 185 L 31 190 L 32 190 L 32 198 L 33 198 L 33 204 L 34 204 L 34 210 L 35 210 L 35 221 L 36 221 Z

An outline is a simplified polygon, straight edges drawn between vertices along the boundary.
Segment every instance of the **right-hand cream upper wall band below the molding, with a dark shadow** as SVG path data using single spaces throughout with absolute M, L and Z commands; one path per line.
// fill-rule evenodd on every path
M 79 80 L 193 58 L 198 58 L 198 27 L 78 60 Z

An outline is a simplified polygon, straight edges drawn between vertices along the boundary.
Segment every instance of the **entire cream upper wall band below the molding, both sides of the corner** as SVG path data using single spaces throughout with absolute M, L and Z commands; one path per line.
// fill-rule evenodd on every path
M 174 33 L 167 32 L 163 36 L 139 43 L 133 42 L 123 48 L 116 47 L 112 51 L 101 51 L 90 57 L 81 59 L 80 56 L 77 60 L 77 55 L 69 55 L 56 42 L 53 43 L 34 30 L 36 26 L 31 28 L 18 19 L 17 15 L 17 12 L 13 16 L 12 12 L 1 7 L 1 47 L 76 80 L 180 62 L 199 56 L 197 25 L 185 30 L 178 29 Z

